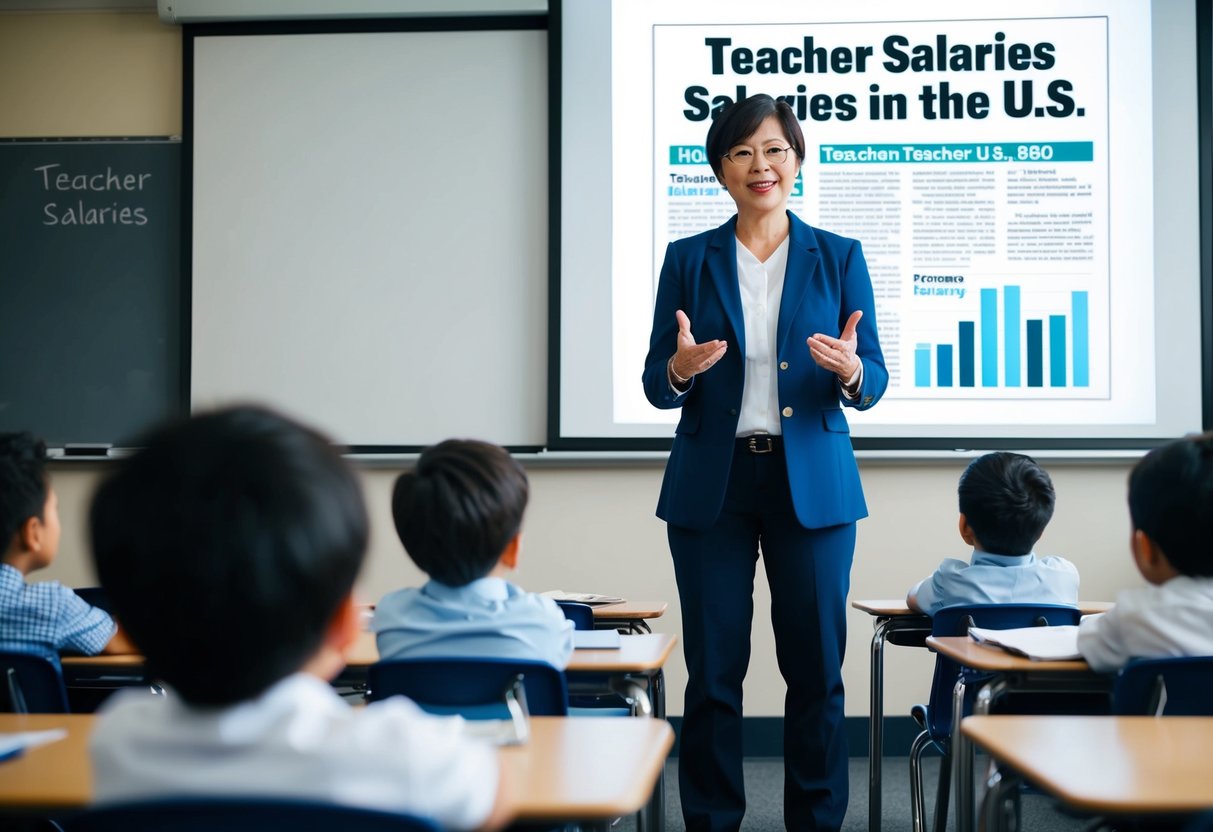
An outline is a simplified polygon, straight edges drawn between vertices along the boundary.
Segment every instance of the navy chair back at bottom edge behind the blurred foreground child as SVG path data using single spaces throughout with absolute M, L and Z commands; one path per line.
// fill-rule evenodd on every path
M 285 799 L 181 799 L 92 809 L 64 832 L 439 832 L 433 821 L 372 809 Z

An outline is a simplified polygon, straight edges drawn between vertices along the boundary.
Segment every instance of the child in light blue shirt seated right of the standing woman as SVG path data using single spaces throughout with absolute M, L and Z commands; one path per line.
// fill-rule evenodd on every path
M 910 609 L 935 615 L 961 604 L 1078 603 L 1078 570 L 1065 558 L 1037 558 L 1032 547 L 1053 517 L 1053 480 L 1031 457 L 979 456 L 961 474 L 961 538 L 969 563 L 947 558 L 910 589 Z

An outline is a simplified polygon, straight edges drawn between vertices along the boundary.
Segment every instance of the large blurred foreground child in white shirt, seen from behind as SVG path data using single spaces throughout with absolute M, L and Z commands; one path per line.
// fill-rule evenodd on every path
M 324 437 L 239 408 L 154 432 L 97 491 L 97 572 L 170 686 L 119 693 L 92 734 L 102 803 L 328 800 L 435 820 L 507 820 L 497 752 L 403 697 L 352 708 L 328 684 L 359 615 L 369 524 Z

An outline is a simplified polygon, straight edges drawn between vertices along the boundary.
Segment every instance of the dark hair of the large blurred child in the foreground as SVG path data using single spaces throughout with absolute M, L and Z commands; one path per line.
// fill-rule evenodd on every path
M 261 408 L 175 421 L 98 488 L 92 552 L 149 672 L 195 706 L 251 699 L 320 648 L 366 552 L 354 472 Z

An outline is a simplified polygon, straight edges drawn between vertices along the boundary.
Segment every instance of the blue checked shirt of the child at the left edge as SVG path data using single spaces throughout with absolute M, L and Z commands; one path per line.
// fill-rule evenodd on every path
M 56 665 L 59 651 L 95 656 L 118 626 L 58 581 L 25 583 L 19 569 L 0 564 L 0 650 L 33 653 Z

